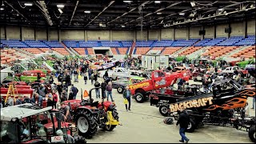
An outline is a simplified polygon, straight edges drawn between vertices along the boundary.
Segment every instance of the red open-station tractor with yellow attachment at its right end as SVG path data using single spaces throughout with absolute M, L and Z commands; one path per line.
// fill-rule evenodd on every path
M 98 127 L 103 130 L 112 131 L 119 125 L 118 112 L 114 102 L 98 102 L 91 98 L 92 90 L 89 91 L 89 98 L 82 100 L 64 101 L 70 106 L 75 125 L 78 126 L 78 134 L 84 138 L 92 138 L 96 134 Z M 101 89 L 98 87 L 98 89 Z

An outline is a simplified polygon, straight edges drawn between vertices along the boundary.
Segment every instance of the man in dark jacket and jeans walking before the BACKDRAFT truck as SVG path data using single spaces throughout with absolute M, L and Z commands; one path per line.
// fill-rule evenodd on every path
M 189 125 L 190 122 L 190 116 L 186 113 L 184 107 L 181 108 L 181 114 L 179 114 L 178 122 L 176 123 L 176 126 L 180 126 L 179 128 L 179 134 L 182 136 L 182 139 L 179 140 L 179 142 L 189 142 L 190 139 L 186 138 L 185 131 Z

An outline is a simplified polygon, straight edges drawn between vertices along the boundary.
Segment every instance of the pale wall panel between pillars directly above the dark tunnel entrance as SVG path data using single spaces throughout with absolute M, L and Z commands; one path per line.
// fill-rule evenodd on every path
M 110 30 L 88 30 L 87 31 L 88 41 L 92 40 L 108 40 L 110 41 Z

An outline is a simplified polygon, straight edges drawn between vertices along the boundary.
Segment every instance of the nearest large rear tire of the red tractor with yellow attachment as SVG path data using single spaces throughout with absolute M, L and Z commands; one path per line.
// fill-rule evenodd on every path
M 84 138 L 92 138 L 97 132 L 98 124 L 96 118 L 86 110 L 78 111 L 75 114 L 75 124 L 78 126 L 78 134 Z

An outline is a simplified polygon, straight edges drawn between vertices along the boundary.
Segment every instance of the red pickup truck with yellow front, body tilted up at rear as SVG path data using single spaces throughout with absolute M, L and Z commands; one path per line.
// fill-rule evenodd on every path
M 166 73 L 162 70 L 155 70 L 151 73 L 151 78 L 142 82 L 137 82 L 129 86 L 130 92 L 136 102 L 144 102 L 149 99 L 151 90 L 158 90 L 159 88 L 173 85 L 178 78 L 184 78 L 186 73 Z

